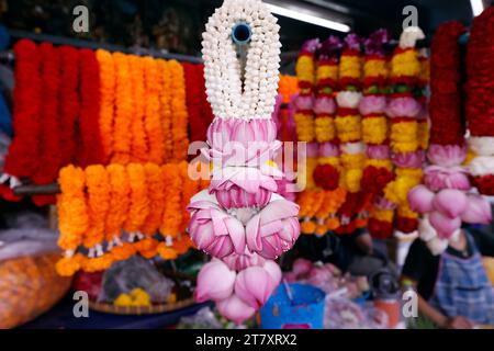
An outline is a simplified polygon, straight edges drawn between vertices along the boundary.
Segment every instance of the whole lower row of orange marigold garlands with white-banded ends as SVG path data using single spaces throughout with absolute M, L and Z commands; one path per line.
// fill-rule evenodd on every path
M 57 272 L 101 271 L 137 252 L 164 259 L 187 252 L 186 205 L 209 185 L 188 171 L 187 161 L 63 168 L 57 208 L 64 258 Z

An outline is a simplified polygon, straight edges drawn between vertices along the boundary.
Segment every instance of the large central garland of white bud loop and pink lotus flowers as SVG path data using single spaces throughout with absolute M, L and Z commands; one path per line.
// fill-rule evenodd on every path
M 252 32 L 244 77 L 229 36 L 238 22 Z M 281 270 L 272 260 L 300 234 L 299 206 L 276 193 L 276 178 L 283 176 L 273 162 L 280 141 L 270 120 L 280 60 L 276 22 L 260 0 L 225 0 L 203 34 L 206 92 L 215 115 L 203 155 L 212 163 L 212 180 L 188 211 L 191 239 L 214 258 L 199 273 L 195 298 L 215 301 L 236 324 L 274 292 Z

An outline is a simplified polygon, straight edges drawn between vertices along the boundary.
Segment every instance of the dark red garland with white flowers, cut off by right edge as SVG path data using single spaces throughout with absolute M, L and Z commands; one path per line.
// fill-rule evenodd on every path
M 492 109 L 492 32 L 494 9 L 485 9 L 473 21 L 467 48 L 467 121 L 469 147 L 474 155 L 469 171 L 481 194 L 494 195 L 494 113 Z

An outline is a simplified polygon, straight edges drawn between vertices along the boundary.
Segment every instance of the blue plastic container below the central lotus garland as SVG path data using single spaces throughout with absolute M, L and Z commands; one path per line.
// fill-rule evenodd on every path
M 291 302 L 283 284 L 278 286 L 260 310 L 262 329 L 322 329 L 324 326 L 324 297 L 322 290 L 308 285 L 289 284 Z

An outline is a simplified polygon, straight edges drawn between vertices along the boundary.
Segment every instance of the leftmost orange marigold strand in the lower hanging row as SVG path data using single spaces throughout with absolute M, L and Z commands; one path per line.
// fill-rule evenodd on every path
M 80 268 L 78 247 L 89 227 L 88 208 L 85 199 L 86 174 L 80 168 L 65 167 L 58 177 L 61 194 L 57 196 L 58 246 L 64 258 L 56 264 L 60 275 L 74 275 Z

